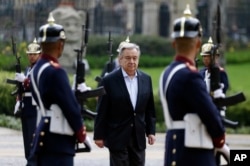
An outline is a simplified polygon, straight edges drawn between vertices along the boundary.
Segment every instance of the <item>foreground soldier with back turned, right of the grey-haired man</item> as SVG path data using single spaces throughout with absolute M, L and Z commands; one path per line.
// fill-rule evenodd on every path
M 184 16 L 173 24 L 175 58 L 160 77 L 167 126 L 165 166 L 216 166 L 214 150 L 225 145 L 221 116 L 195 66 L 201 37 L 200 21 L 191 16 L 187 6 Z M 220 95 L 224 94 L 218 89 L 214 97 Z

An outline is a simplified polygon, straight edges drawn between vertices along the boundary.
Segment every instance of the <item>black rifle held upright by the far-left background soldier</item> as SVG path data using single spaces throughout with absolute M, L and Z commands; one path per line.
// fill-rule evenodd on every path
M 12 52 L 13 55 L 16 57 L 16 73 L 21 73 L 21 63 L 20 63 L 20 56 L 18 56 L 17 52 L 16 52 L 16 42 L 14 40 L 14 37 L 11 36 L 11 45 L 12 45 Z M 20 100 L 20 105 L 19 105 L 19 110 L 18 112 L 15 114 L 16 116 L 19 116 L 21 113 L 21 108 L 22 108 L 22 95 L 23 95 L 23 86 L 21 82 L 18 82 L 16 80 L 12 80 L 12 79 L 6 79 L 6 83 L 8 84 L 14 84 L 16 85 L 16 90 L 11 92 L 11 95 L 17 95 L 18 100 Z

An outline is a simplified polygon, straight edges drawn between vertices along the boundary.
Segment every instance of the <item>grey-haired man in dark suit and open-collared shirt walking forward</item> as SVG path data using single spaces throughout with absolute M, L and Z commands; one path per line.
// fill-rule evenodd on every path
M 151 77 L 138 70 L 140 49 L 126 43 L 120 49 L 120 69 L 101 82 L 106 94 L 97 105 L 94 140 L 110 153 L 111 166 L 145 165 L 146 138 L 155 142 L 155 107 Z

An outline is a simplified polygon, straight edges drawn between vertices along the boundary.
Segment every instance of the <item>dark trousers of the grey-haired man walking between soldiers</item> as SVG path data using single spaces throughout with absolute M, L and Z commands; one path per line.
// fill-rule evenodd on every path
M 132 136 L 128 146 L 123 150 L 109 150 L 110 166 L 144 166 L 145 149 L 139 150 L 135 136 Z

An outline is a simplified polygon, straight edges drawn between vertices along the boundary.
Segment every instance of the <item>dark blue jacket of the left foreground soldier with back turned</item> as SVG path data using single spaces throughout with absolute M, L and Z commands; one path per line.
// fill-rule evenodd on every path
M 49 62 L 51 65 L 47 67 L 40 76 L 37 82 L 37 75 L 40 67 Z M 64 69 L 60 67 L 56 59 L 50 56 L 42 55 L 34 67 L 34 79 L 38 85 L 38 90 L 46 109 L 49 109 L 52 104 L 57 104 L 68 120 L 71 128 L 77 132 L 83 125 L 81 118 L 80 106 L 77 103 L 75 95 L 71 90 L 67 74 Z M 32 95 L 35 100 L 37 96 L 32 90 Z M 75 154 L 76 136 L 67 136 L 60 134 L 48 133 L 47 142 L 44 143 L 45 152 L 49 153 L 66 153 L 69 155 Z

